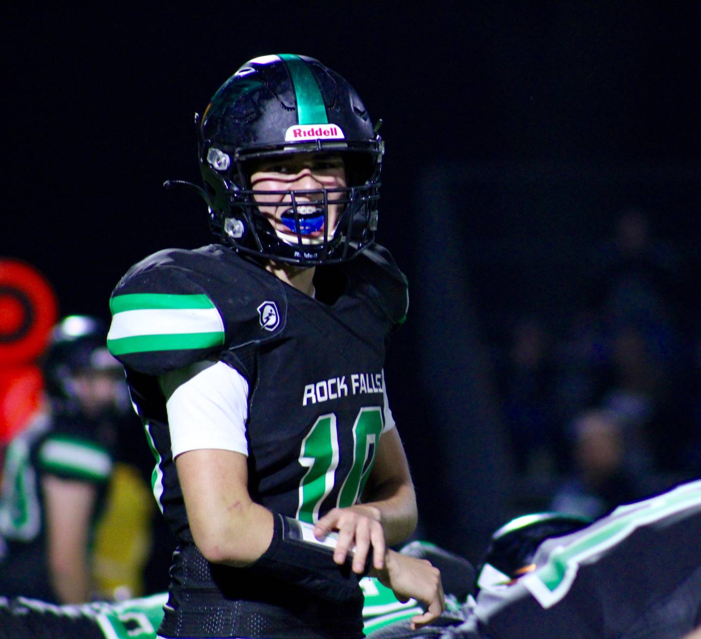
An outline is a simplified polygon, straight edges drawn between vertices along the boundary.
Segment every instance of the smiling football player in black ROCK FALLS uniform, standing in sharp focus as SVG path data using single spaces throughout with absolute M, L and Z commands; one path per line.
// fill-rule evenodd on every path
M 111 297 L 179 547 L 159 634 L 358 638 L 372 574 L 444 607 L 416 524 L 383 366 L 407 312 L 374 242 L 383 141 L 339 74 L 300 55 L 243 64 L 196 117 L 218 242 L 133 266 Z

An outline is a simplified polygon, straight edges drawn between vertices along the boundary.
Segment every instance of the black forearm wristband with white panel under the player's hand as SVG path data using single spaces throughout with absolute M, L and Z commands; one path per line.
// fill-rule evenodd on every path
M 273 540 L 264 554 L 247 570 L 299 586 L 311 595 L 334 603 L 362 598 L 359 575 L 351 570 L 351 558 L 334 562 L 334 544 L 305 539 L 295 519 L 273 514 Z

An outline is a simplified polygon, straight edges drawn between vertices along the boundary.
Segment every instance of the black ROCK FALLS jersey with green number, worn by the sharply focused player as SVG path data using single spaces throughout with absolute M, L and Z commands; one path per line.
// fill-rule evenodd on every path
M 251 497 L 308 522 L 354 504 L 384 427 L 386 340 L 407 311 L 406 280 L 390 254 L 374 246 L 341 266 L 318 268 L 315 287 L 311 298 L 231 249 L 210 245 L 154 254 L 111 298 L 108 347 L 127 369 L 156 455 L 154 493 L 179 542 L 161 626 L 166 636 L 202 632 L 205 616 L 212 618 L 207 610 L 219 619 L 207 622 L 207 632 L 222 637 L 341 637 L 362 629 L 360 589 L 339 609 L 204 560 L 189 530 L 158 385 L 161 373 L 205 359 L 235 369 L 248 385 Z

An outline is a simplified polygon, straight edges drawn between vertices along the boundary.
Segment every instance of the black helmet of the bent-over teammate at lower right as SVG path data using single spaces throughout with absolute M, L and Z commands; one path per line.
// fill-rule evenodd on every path
M 480 588 L 504 584 L 532 570 L 533 558 L 549 537 L 569 535 L 592 523 L 587 517 L 558 512 L 522 515 L 505 523 L 491 536 L 479 568 Z

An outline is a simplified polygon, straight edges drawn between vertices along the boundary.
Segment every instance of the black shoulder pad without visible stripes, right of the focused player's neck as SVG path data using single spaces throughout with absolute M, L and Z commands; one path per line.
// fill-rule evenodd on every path
M 377 305 L 393 324 L 404 323 L 409 310 L 407 277 L 385 247 L 370 245 L 343 264 L 343 270 L 365 282 Z

